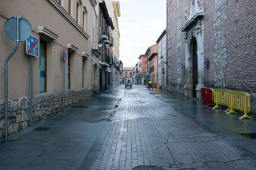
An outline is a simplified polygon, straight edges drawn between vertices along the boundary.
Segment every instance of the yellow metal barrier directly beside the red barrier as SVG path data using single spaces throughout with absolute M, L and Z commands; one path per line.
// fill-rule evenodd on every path
M 216 104 L 216 106 L 214 108 L 212 108 L 213 110 L 216 108 L 221 108 L 219 106 L 219 104 L 224 105 L 224 106 L 228 106 L 228 110 L 226 110 L 225 112 L 230 110 L 230 90 L 223 90 L 223 89 L 214 89 L 214 103 Z

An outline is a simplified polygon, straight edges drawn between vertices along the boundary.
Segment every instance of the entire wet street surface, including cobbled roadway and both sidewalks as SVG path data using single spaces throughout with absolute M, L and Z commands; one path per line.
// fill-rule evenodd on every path
M 255 169 L 255 120 L 124 85 L 0 143 L 0 169 Z

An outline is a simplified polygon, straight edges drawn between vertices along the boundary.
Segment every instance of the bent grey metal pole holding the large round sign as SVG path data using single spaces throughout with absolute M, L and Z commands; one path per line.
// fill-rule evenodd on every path
M 16 46 L 12 50 L 12 52 L 8 55 L 4 62 L 4 69 L 5 69 L 5 74 L 4 74 L 4 97 L 5 97 L 5 129 L 4 129 L 4 136 L 5 136 L 5 141 L 8 140 L 8 60 L 12 57 L 13 53 L 16 52 L 16 50 L 19 48 L 20 44 L 20 17 L 15 17 L 16 18 Z

